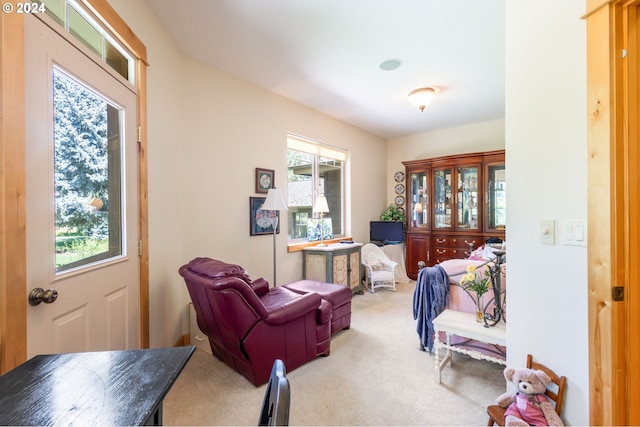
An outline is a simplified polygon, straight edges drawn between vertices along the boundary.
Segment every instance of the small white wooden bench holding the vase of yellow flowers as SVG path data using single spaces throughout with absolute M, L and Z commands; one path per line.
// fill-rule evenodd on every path
M 486 344 L 507 345 L 507 329 L 503 322 L 486 328 L 484 323 L 476 322 L 476 315 L 464 313 L 462 311 L 445 310 L 438 317 L 433 319 L 433 329 L 435 331 L 435 378 L 440 384 L 441 373 L 449 362 L 453 366 L 451 352 L 466 354 L 474 359 L 488 360 L 490 362 L 506 365 L 506 361 L 497 357 L 489 356 L 478 350 L 472 350 L 451 344 L 451 335 L 469 338 Z M 444 332 L 447 337 L 446 342 L 440 341 L 440 332 Z M 440 360 L 440 350 L 446 349 L 444 359 Z

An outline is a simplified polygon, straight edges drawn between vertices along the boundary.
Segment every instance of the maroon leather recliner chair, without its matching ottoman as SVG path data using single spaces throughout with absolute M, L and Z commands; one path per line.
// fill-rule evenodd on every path
M 196 258 L 179 273 L 213 354 L 255 386 L 267 382 L 276 359 L 290 372 L 329 355 L 332 308 L 318 294 L 269 288 L 241 266 L 211 258 Z

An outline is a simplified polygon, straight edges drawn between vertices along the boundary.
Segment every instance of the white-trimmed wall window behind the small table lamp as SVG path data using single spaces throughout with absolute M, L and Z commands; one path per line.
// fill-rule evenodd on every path
M 319 195 L 324 195 L 329 205 L 329 212 L 324 214 L 320 224 L 321 229 L 323 225 L 325 228 L 324 239 L 344 236 L 344 171 L 347 161 L 346 150 L 287 135 L 289 242 L 304 242 L 317 237 L 309 227 L 318 223 L 319 216 L 313 212 L 313 205 Z M 327 228 L 331 235 L 327 235 Z

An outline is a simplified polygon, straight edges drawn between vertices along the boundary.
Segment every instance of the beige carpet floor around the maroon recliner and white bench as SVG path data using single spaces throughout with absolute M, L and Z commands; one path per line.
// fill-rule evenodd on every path
M 486 425 L 504 367 L 455 353 L 436 384 L 415 331 L 415 282 L 397 287 L 354 295 L 351 329 L 333 337 L 331 355 L 287 373 L 291 425 Z M 164 424 L 256 425 L 265 387 L 196 350 L 164 401 Z

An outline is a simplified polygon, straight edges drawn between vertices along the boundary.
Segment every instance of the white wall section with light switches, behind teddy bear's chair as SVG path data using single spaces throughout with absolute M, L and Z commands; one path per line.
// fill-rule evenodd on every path
M 587 218 L 585 5 L 506 3 L 508 362 L 532 353 L 566 375 L 564 420 L 588 425 L 587 248 L 559 242 L 562 220 Z

